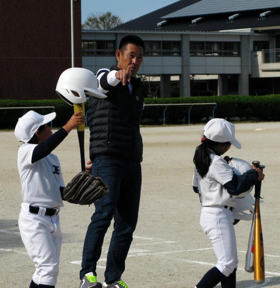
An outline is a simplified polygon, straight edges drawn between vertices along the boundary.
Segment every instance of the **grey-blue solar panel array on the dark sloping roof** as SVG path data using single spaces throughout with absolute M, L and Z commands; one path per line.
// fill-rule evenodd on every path
M 280 7 L 279 0 L 201 0 L 161 18 L 201 16 L 217 13 L 231 13 L 243 10 L 272 9 Z

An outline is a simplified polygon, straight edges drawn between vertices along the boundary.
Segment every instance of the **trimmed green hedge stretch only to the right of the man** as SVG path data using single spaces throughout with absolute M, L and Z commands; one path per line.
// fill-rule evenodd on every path
M 183 104 L 183 103 L 217 103 L 214 110 L 216 118 L 233 120 L 280 121 L 280 95 L 265 96 L 201 96 L 184 98 L 145 99 L 145 104 Z M 168 106 L 165 111 L 165 124 L 188 123 L 189 106 Z M 164 106 L 145 107 L 142 122 L 162 123 Z M 190 122 L 200 123 L 212 116 L 213 105 L 193 106 L 190 110 Z M 206 118 L 206 119 L 205 119 Z M 145 120 L 146 119 L 146 120 Z M 161 121 L 159 121 L 159 119 Z

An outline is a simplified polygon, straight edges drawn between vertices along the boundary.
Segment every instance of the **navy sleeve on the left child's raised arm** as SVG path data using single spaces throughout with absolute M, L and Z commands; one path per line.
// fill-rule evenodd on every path
M 49 155 L 67 135 L 68 134 L 64 128 L 60 128 L 57 132 L 48 137 L 44 142 L 38 144 L 33 150 L 31 163 L 34 163 Z

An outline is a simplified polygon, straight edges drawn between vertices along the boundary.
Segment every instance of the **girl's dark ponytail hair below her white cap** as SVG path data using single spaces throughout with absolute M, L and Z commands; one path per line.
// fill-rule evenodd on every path
M 212 141 L 210 139 L 207 139 L 204 135 L 201 138 L 201 142 L 202 143 L 199 146 L 197 146 L 195 149 L 193 163 L 195 164 L 198 174 L 201 176 L 201 178 L 203 178 L 207 174 L 209 166 L 211 164 L 211 157 L 210 157 L 210 152 L 208 148 L 211 148 L 215 152 L 216 146 L 219 146 L 221 144 L 227 144 L 229 142 L 220 143 L 220 142 Z

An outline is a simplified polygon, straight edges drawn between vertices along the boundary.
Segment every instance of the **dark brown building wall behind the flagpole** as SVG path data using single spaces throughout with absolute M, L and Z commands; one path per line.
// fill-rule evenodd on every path
M 73 1 L 75 67 L 82 67 L 81 0 Z M 0 99 L 53 99 L 71 64 L 71 1 L 1 1 Z

